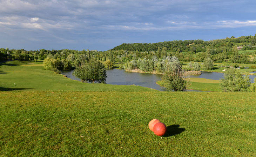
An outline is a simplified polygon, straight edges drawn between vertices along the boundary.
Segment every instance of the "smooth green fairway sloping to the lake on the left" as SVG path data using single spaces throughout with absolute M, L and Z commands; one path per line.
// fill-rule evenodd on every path
M 35 63 L 35 65 L 27 63 Z M 42 62 L 9 61 L 0 64 L 0 90 L 152 91 L 153 89 L 132 85 L 82 83 L 43 69 Z

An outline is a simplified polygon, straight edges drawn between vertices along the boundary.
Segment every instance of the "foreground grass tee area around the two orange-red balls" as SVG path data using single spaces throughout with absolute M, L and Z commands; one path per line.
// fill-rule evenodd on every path
M 255 93 L 0 91 L 4 156 L 256 156 Z M 166 124 L 161 139 L 148 128 Z

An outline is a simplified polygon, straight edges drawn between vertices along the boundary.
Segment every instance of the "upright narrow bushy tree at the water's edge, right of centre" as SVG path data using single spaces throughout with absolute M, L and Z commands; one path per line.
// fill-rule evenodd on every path
M 187 88 L 186 74 L 178 60 L 167 65 L 162 79 L 168 90 L 183 91 Z

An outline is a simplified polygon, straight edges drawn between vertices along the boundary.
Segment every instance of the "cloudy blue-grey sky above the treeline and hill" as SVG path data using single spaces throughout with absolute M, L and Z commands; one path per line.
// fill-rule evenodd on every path
M 122 43 L 255 35 L 254 0 L 0 0 L 0 47 L 107 51 Z

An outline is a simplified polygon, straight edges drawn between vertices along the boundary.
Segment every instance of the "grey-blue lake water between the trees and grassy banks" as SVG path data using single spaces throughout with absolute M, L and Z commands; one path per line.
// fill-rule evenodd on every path
M 73 71 L 62 72 L 63 75 L 66 75 L 68 78 L 72 80 L 81 81 L 79 78 L 76 78 L 72 75 Z M 162 80 L 160 74 L 147 74 L 147 73 L 131 73 L 126 72 L 120 69 L 112 69 L 107 70 L 107 84 L 117 84 L 117 85 L 139 85 L 142 87 L 153 88 L 160 91 L 165 91 L 164 87 L 157 85 L 156 82 Z M 201 75 L 191 75 L 190 77 L 198 77 L 198 78 L 208 78 L 212 80 L 220 80 L 223 78 L 223 73 L 215 73 L 215 72 L 202 72 Z M 251 78 L 251 82 L 254 81 L 253 75 L 249 76 Z M 195 90 L 188 90 L 195 91 Z

